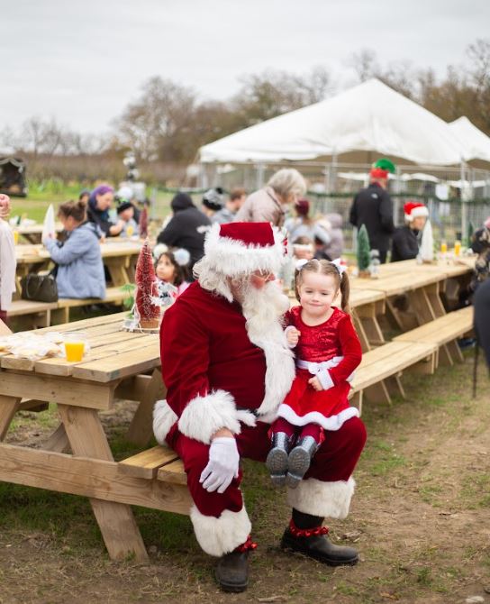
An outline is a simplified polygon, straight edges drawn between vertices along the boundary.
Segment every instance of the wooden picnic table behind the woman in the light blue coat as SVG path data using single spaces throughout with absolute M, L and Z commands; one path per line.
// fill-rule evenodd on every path
M 109 270 L 114 287 L 121 287 L 134 282 L 134 270 L 142 243 L 139 241 L 110 241 L 101 243 L 104 265 Z M 20 292 L 20 279 L 30 272 L 48 270 L 52 264 L 50 252 L 39 245 L 16 245 L 17 288 Z

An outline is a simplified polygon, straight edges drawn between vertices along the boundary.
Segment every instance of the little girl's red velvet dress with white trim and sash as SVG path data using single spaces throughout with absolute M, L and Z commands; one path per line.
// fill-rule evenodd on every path
M 305 325 L 301 318 L 302 307 L 293 307 L 286 314 L 286 324 L 301 332 L 295 347 L 296 365 L 310 361 L 310 369 L 296 369 L 293 386 L 279 407 L 278 416 L 293 426 L 318 424 L 325 430 L 338 430 L 358 410 L 349 406 L 349 376 L 358 367 L 362 351 L 358 334 L 350 316 L 333 307 L 330 319 L 321 325 Z M 343 357 L 341 360 L 334 357 Z M 317 391 L 308 383 L 319 370 L 317 363 L 331 361 L 325 380 L 328 389 Z M 302 363 L 304 364 L 304 363 Z

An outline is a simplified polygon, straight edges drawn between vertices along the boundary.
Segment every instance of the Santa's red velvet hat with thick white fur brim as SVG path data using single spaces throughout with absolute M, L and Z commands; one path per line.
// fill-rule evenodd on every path
M 285 261 L 285 236 L 270 223 L 213 224 L 204 243 L 210 270 L 227 277 L 254 270 L 277 273 Z

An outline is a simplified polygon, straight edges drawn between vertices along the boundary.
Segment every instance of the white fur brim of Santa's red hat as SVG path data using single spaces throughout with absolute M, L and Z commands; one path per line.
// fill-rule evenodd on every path
M 273 227 L 274 245 L 246 245 L 231 237 L 220 235 L 220 224 L 213 224 L 206 235 L 204 258 L 206 264 L 227 277 L 268 270 L 277 274 L 285 261 L 284 235 Z

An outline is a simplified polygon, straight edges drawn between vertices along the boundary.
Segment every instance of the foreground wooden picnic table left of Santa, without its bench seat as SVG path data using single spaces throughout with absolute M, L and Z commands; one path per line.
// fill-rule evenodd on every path
M 116 397 L 140 401 L 128 437 L 144 445 L 150 440 L 154 402 L 166 394 L 159 335 L 121 331 L 124 316 L 38 330 L 86 332 L 91 350 L 81 362 L 0 356 L 0 441 L 23 398 L 57 403 L 61 420 L 41 449 L 1 442 L 0 480 L 90 498 L 110 556 L 132 554 L 141 560 L 147 554 L 130 506 L 188 514 L 191 499 L 182 483 L 135 477 L 113 461 L 98 412 L 113 408 Z M 73 454 L 65 453 L 69 449 Z M 175 462 L 175 453 L 168 455 L 168 462 Z

